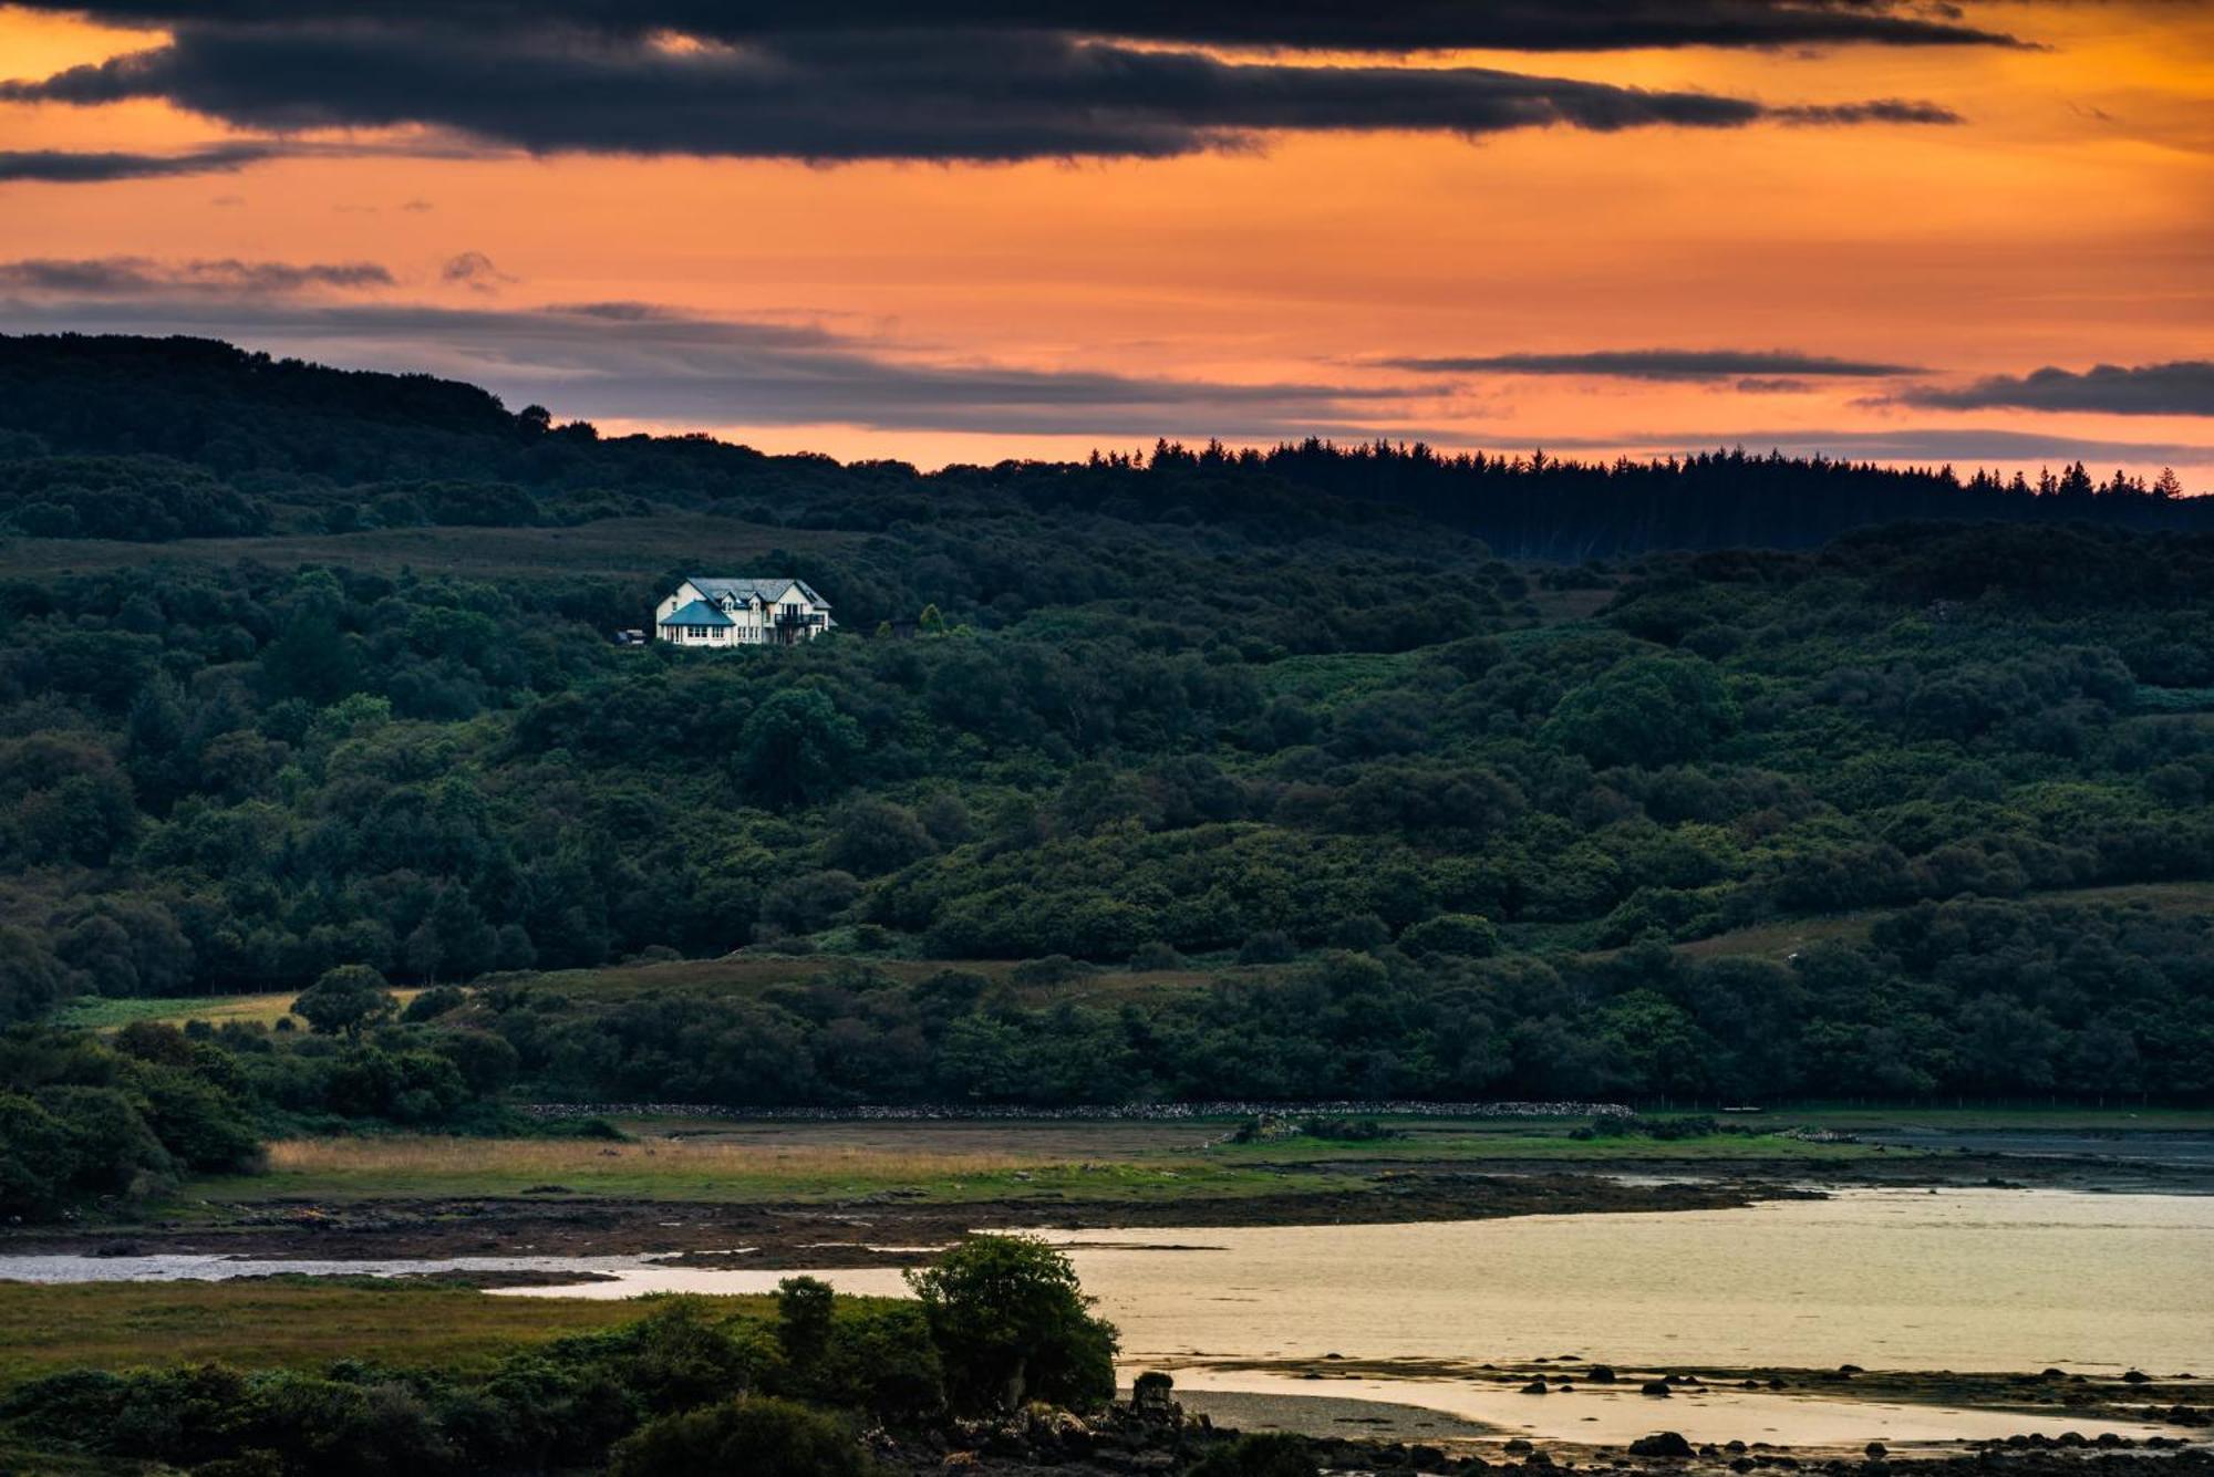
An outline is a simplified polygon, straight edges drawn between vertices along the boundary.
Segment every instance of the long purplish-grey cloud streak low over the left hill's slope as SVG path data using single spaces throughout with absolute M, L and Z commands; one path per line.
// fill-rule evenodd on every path
M 511 405 L 658 425 L 859 425 L 1032 436 L 1364 438 L 1401 394 L 1231 385 L 1098 369 L 925 363 L 804 323 L 700 318 L 646 303 L 443 310 L 399 303 L 146 301 L 97 290 L 0 296 L 9 332 L 199 334 L 370 369 L 449 374 Z M 1435 438 L 1435 433 L 1432 433 Z

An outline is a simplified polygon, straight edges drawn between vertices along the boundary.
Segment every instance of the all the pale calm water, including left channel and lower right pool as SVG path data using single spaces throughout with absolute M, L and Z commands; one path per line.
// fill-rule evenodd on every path
M 1069 1247 L 1129 1366 L 1193 1389 L 1386 1397 L 1514 1431 L 1612 1442 L 1860 1442 L 2021 1431 L 2028 1417 L 1729 1393 L 1519 1395 L 1468 1380 L 1311 1382 L 1229 1371 L 1269 1358 L 1532 1360 L 1652 1366 L 2194 1371 L 2214 1378 L 2214 1198 L 2048 1190 L 1866 1190 L 1747 1209 L 1049 1234 Z M 786 1271 L 635 1256 L 248 1263 L 210 1256 L 0 1258 L 0 1278 L 224 1278 L 270 1271 L 562 1267 L 613 1276 L 500 1296 L 766 1291 Z M 899 1293 L 886 1269 L 817 1274 Z M 1213 1364 L 1215 1369 L 1207 1369 Z M 2110 1428 L 2077 1424 L 2086 1435 Z M 2130 1426 L 2112 1426 L 2130 1431 Z

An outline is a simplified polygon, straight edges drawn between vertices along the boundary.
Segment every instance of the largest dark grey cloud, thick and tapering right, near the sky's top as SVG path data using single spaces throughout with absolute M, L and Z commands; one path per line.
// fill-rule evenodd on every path
M 1880 7 L 1815 9 L 1866 20 Z M 1957 122 L 1924 102 L 1769 106 L 1472 66 L 1231 62 L 1041 29 L 910 20 L 673 46 L 611 20 L 507 29 L 487 24 L 485 11 L 465 15 L 467 24 L 179 22 L 164 46 L 4 82 L 0 99 L 164 97 L 259 130 L 427 126 L 534 153 L 815 161 L 1173 157 L 1275 130 L 1479 137 L 1550 126 Z M 706 27 L 711 15 L 697 20 Z

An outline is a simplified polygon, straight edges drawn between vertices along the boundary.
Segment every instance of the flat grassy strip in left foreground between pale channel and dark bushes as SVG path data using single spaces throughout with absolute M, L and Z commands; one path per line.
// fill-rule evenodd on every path
M 755 1311 L 755 1300 L 728 1307 Z M 622 1300 L 487 1298 L 427 1282 L 0 1282 L 0 1386 L 84 1364 L 456 1364 L 638 1316 Z

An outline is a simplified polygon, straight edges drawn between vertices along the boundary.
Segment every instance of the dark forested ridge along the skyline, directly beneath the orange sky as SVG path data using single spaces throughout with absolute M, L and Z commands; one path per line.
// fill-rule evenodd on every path
M 742 409 L 742 407 L 739 407 Z M 2214 500 L 2081 464 L 2039 478 L 1716 451 L 1587 464 L 1424 447 L 1156 447 L 1087 464 L 917 473 L 706 438 L 600 438 L 472 385 L 272 360 L 199 338 L 0 336 L 0 524 L 173 540 L 379 526 L 531 526 L 695 509 L 804 528 L 1023 509 L 1249 531 L 1342 504 L 1448 524 L 1512 557 L 1815 546 L 1897 520 L 2214 528 Z

